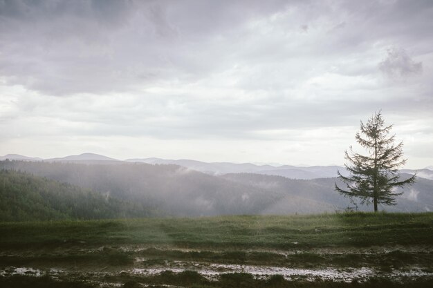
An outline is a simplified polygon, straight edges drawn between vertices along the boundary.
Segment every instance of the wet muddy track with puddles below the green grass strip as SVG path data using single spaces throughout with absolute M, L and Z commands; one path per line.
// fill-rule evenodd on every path
M 286 282 L 353 285 L 383 279 L 398 284 L 433 281 L 432 256 L 427 246 L 215 251 L 140 245 L 87 247 L 80 243 L 68 248 L 1 251 L 0 276 L 48 276 L 97 287 L 124 287 L 131 282 L 142 287 L 168 285 L 170 280 L 165 283 L 161 276 L 187 273 L 210 283 L 219 282 L 223 274 L 248 274 L 262 281 L 277 276 Z

